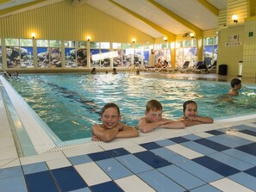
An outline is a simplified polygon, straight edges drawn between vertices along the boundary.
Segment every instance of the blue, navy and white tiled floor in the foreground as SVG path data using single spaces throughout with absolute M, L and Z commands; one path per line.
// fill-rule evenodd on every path
M 18 158 L 0 169 L 0 191 L 256 191 L 256 122 L 176 135 Z

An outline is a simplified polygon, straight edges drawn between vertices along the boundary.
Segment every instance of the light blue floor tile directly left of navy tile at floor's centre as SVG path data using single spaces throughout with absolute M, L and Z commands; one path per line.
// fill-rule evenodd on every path
M 138 174 L 140 172 L 144 172 L 147 170 L 153 170 L 152 166 L 149 166 L 148 164 L 141 161 L 140 158 L 136 158 L 132 154 L 117 157 L 116 160 L 118 160 L 121 164 L 126 166 L 129 170 L 131 170 L 135 174 Z

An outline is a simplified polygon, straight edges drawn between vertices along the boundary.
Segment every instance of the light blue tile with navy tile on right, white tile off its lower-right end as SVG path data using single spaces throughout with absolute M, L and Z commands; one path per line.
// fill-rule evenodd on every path
M 190 174 L 200 178 L 206 183 L 211 183 L 223 178 L 222 175 L 216 173 L 215 171 L 209 170 L 208 168 L 200 164 L 197 164 L 193 161 L 187 161 L 187 162 L 179 163 L 176 165 L 181 169 L 186 170 Z

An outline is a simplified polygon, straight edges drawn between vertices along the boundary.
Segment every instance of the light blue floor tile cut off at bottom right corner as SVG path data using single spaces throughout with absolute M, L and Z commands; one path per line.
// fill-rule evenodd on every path
M 255 171 L 255 170 L 254 170 Z M 256 191 L 256 177 L 250 176 L 247 173 L 240 172 L 229 177 L 235 183 L 240 183 L 253 191 Z

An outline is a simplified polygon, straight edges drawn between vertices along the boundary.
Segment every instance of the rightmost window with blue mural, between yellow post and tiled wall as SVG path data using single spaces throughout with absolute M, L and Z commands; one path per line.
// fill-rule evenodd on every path
M 203 60 L 207 66 L 217 61 L 218 37 L 203 38 Z

